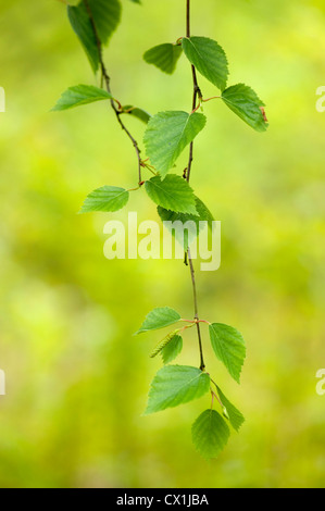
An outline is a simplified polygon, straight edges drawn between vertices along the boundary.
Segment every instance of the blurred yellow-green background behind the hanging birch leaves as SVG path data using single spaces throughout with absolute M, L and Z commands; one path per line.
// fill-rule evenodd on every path
M 322 0 L 192 1 L 192 33 L 216 39 L 229 84 L 253 87 L 270 128 L 257 134 L 222 103 L 204 107 L 192 185 L 222 221 L 222 266 L 198 273 L 200 315 L 236 326 L 248 345 L 241 386 L 215 360 L 208 370 L 246 415 L 239 435 L 207 463 L 190 424 L 209 397 L 141 416 L 160 366 L 161 334 L 133 337 L 168 304 L 192 314 L 188 269 L 176 261 L 108 261 L 104 223 L 77 215 L 102 185 L 136 185 L 129 141 L 104 103 L 49 113 L 61 92 L 96 84 L 63 3 L 1 2 L 1 487 L 324 487 L 325 85 Z M 123 103 L 189 110 L 185 58 L 167 76 L 141 61 L 185 30 L 185 1 L 123 1 L 105 52 Z M 205 97 L 215 90 L 200 79 Z M 127 119 L 141 140 L 143 126 Z M 180 159 L 178 169 L 182 170 Z M 145 191 L 128 210 L 157 219 Z M 186 338 L 180 363 L 197 364 Z

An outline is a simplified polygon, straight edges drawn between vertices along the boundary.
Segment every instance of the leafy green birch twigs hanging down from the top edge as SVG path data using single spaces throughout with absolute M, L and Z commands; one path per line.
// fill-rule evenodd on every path
M 108 40 L 112 27 L 120 22 L 120 0 L 114 0 L 115 14 L 107 10 L 107 0 L 80 0 L 76 7 L 67 5 L 72 27 L 78 36 L 92 70 L 101 71 L 101 88 L 92 85 L 70 87 L 57 102 L 53 110 L 67 110 L 99 100 L 109 100 L 120 126 L 132 141 L 138 162 L 138 186 L 124 189 L 104 186 L 90 192 L 80 210 L 82 213 L 93 211 L 117 211 L 127 204 L 129 192 L 143 188 L 148 197 L 158 205 L 161 219 L 187 220 L 196 219 L 211 222 L 212 215 L 205 204 L 198 199 L 189 186 L 193 162 L 193 140 L 205 126 L 205 115 L 198 113 L 203 103 L 217 100 L 228 108 L 247 125 L 257 132 L 267 128 L 264 103 L 247 85 L 240 83 L 227 87 L 228 63 L 223 48 L 208 37 L 191 36 L 190 0 L 186 0 L 186 37 L 175 43 L 163 43 L 148 50 L 143 59 L 167 74 L 172 74 L 182 53 L 188 59 L 192 75 L 191 112 L 167 111 L 150 116 L 141 109 L 122 108 L 111 90 L 111 78 L 103 62 L 102 40 Z M 112 4 L 111 4 L 112 7 Z M 100 30 L 99 30 L 100 27 Z M 104 30 L 103 38 L 102 30 Z M 218 90 L 217 96 L 204 99 L 198 84 L 198 74 L 212 83 Z M 105 87 L 105 89 L 103 88 Z M 136 113 L 137 112 L 137 113 Z M 137 140 L 121 119 L 124 113 L 135 116 L 148 124 L 143 144 L 147 159 L 141 160 Z M 179 154 L 189 147 L 188 164 L 183 177 L 173 173 Z M 146 169 L 153 177 L 142 180 L 141 170 Z M 229 375 L 240 382 L 240 373 L 246 358 L 246 345 L 241 334 L 233 326 L 223 323 L 211 323 L 199 319 L 197 284 L 193 262 L 187 240 L 185 248 L 186 263 L 188 260 L 192 296 L 193 320 L 185 320 L 170 307 L 155 308 L 145 319 L 137 334 L 170 327 L 180 322 L 183 325 L 168 332 L 151 352 L 151 357 L 161 356 L 164 366 L 154 376 L 146 413 L 153 413 L 166 408 L 187 403 L 201 396 L 209 395 L 210 403 L 192 424 L 192 441 L 204 458 L 218 456 L 229 437 L 229 426 L 238 432 L 245 419 L 239 410 L 225 397 L 215 379 L 205 371 L 203 358 L 201 326 L 209 328 L 209 337 L 216 359 L 222 362 Z M 184 326 L 184 322 L 187 323 Z M 171 364 L 183 349 L 183 336 L 191 327 L 196 327 L 200 365 Z M 214 407 L 218 407 L 218 412 Z M 220 413 L 221 412 L 221 413 Z

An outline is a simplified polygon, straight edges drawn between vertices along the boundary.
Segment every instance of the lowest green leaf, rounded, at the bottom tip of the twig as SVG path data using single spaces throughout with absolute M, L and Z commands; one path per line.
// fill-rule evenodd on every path
M 192 425 L 192 441 L 205 459 L 216 458 L 228 441 L 230 431 L 215 410 L 205 410 Z

